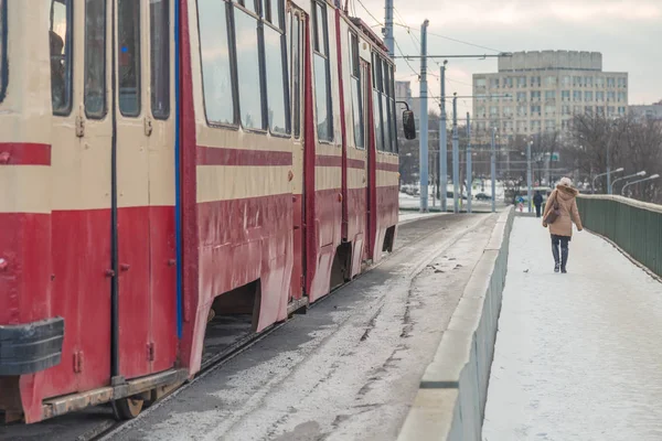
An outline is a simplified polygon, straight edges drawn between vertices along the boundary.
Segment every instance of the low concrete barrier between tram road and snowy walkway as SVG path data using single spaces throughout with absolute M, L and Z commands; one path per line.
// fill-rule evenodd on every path
M 502 212 L 427 366 L 398 441 L 479 441 L 514 208 Z

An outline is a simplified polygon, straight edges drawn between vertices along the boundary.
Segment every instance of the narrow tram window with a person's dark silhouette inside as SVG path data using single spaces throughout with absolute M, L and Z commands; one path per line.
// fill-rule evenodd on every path
M 72 111 L 72 0 L 51 1 L 51 101 L 54 115 Z

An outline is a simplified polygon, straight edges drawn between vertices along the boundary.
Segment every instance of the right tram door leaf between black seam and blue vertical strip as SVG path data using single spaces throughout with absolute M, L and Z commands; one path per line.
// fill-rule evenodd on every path
M 173 1 L 115 3 L 119 375 L 175 356 Z

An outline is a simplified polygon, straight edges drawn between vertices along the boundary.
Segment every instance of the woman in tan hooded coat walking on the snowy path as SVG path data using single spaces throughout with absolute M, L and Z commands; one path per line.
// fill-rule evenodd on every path
M 552 235 L 552 254 L 554 255 L 554 272 L 564 275 L 566 263 L 568 262 L 568 243 L 573 237 L 573 222 L 577 225 L 577 230 L 581 232 L 581 218 L 577 209 L 577 190 L 573 189 L 573 182 L 568 178 L 563 178 L 556 190 L 552 192 L 545 205 L 543 215 L 543 226 L 549 226 Z M 552 216 L 551 216 L 552 215 Z M 558 247 L 560 246 L 560 258 Z

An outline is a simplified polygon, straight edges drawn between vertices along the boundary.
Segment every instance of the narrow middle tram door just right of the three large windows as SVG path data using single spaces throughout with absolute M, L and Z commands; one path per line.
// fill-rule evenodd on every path
M 303 295 L 306 275 L 306 198 L 305 198 L 305 66 L 308 51 L 306 47 L 307 20 L 303 11 L 290 7 L 289 17 L 289 60 L 290 60 L 290 96 L 292 109 L 292 181 L 293 198 L 293 245 L 295 265 L 290 286 L 290 300 Z M 310 152 L 314 154 L 313 152 Z

